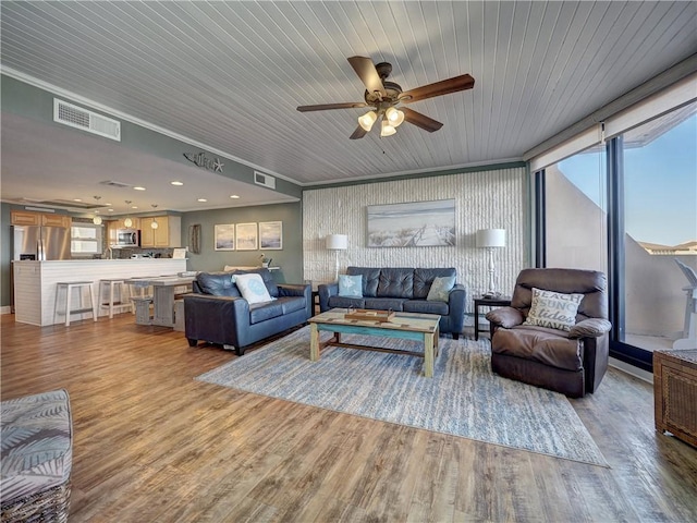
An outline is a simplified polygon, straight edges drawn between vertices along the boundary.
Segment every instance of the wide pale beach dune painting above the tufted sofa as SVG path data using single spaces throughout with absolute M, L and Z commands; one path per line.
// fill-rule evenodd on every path
M 368 247 L 455 245 L 455 200 L 368 206 Z

